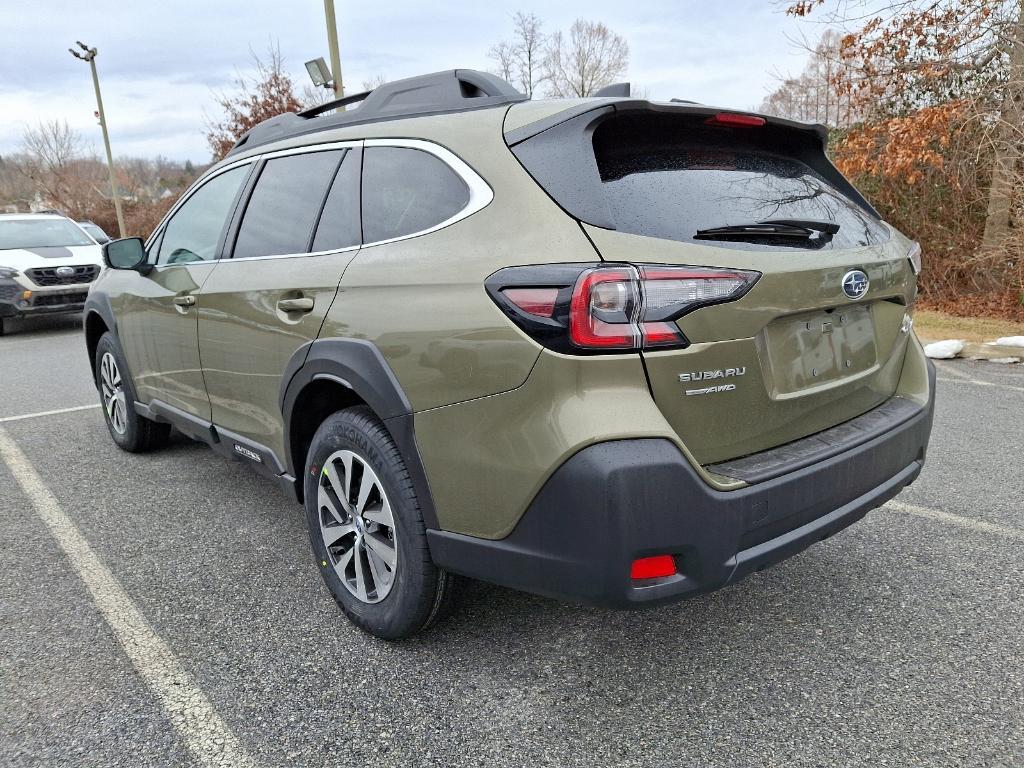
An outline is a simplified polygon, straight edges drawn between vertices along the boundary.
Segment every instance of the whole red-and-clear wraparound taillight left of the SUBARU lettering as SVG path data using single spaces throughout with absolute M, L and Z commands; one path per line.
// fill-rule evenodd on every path
M 692 266 L 551 264 L 502 269 L 486 289 L 545 346 L 586 354 L 687 346 L 677 319 L 738 299 L 760 276 Z

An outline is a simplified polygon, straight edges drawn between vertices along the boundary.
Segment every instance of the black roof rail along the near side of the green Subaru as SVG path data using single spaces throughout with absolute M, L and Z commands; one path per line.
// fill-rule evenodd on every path
M 243 134 L 227 157 L 252 146 L 329 128 L 479 110 L 526 99 L 511 85 L 489 73 L 445 70 L 384 83 L 366 93 L 355 93 L 300 113 L 289 112 L 264 120 Z M 356 102 L 359 105 L 354 110 L 327 114 Z

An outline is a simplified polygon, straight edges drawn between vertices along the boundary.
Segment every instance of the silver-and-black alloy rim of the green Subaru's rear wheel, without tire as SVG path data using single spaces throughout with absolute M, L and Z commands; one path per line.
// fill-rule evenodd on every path
M 335 572 L 356 599 L 377 603 L 394 586 L 398 547 L 384 485 L 370 464 L 336 451 L 319 474 L 321 536 Z

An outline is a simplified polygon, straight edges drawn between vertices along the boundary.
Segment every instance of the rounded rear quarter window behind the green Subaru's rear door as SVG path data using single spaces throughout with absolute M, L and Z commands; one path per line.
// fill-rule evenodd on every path
M 469 187 L 439 158 L 407 146 L 368 146 L 362 160 L 362 240 L 430 229 L 469 204 Z

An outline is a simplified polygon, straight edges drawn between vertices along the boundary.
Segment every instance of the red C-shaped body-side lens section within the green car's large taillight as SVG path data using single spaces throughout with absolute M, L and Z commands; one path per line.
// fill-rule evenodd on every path
M 637 345 L 636 271 L 630 267 L 590 269 L 572 291 L 569 338 L 578 347 L 632 349 Z

